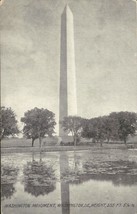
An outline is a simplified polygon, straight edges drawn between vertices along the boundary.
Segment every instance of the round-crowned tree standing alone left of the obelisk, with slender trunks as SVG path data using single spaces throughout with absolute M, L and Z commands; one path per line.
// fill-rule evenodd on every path
M 25 112 L 21 122 L 25 124 L 23 128 L 24 135 L 28 139 L 32 139 L 32 146 L 34 141 L 39 139 L 40 147 L 42 138 L 46 135 L 51 136 L 56 125 L 55 114 L 43 108 L 34 108 Z

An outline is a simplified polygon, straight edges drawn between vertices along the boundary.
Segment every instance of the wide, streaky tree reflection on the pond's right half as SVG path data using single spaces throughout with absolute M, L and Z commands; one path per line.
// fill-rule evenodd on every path
M 137 163 L 130 161 L 93 162 L 80 159 L 74 153 L 74 164 L 67 166 L 61 180 L 81 184 L 88 180 L 112 181 L 114 185 L 137 185 Z

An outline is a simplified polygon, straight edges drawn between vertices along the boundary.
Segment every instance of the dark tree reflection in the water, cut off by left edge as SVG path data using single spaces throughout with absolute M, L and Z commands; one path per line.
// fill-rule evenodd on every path
M 1 198 L 11 198 L 16 192 L 15 183 L 17 181 L 19 169 L 13 166 L 1 165 Z

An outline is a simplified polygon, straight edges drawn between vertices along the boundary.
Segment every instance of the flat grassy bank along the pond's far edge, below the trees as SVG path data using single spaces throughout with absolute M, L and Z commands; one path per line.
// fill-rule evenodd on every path
M 10 152 L 32 152 L 32 151 L 73 151 L 73 150 L 94 150 L 94 148 L 101 149 L 102 147 L 100 144 L 88 143 L 83 142 L 79 146 L 60 146 L 57 145 L 57 139 L 44 139 L 43 146 L 39 148 L 38 140 L 35 141 L 34 147 L 32 147 L 30 139 L 18 139 L 18 138 L 11 138 L 11 139 L 4 139 L 1 141 L 1 153 L 10 153 Z M 137 143 L 128 143 L 125 146 L 124 143 L 104 143 L 103 148 L 105 149 L 127 149 L 127 148 L 137 148 Z

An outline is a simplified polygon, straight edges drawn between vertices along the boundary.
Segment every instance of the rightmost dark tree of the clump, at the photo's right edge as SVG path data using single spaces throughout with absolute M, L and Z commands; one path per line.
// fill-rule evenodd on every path
M 112 118 L 118 121 L 118 136 L 126 144 L 129 135 L 134 135 L 137 127 L 137 114 L 134 112 L 113 112 Z

